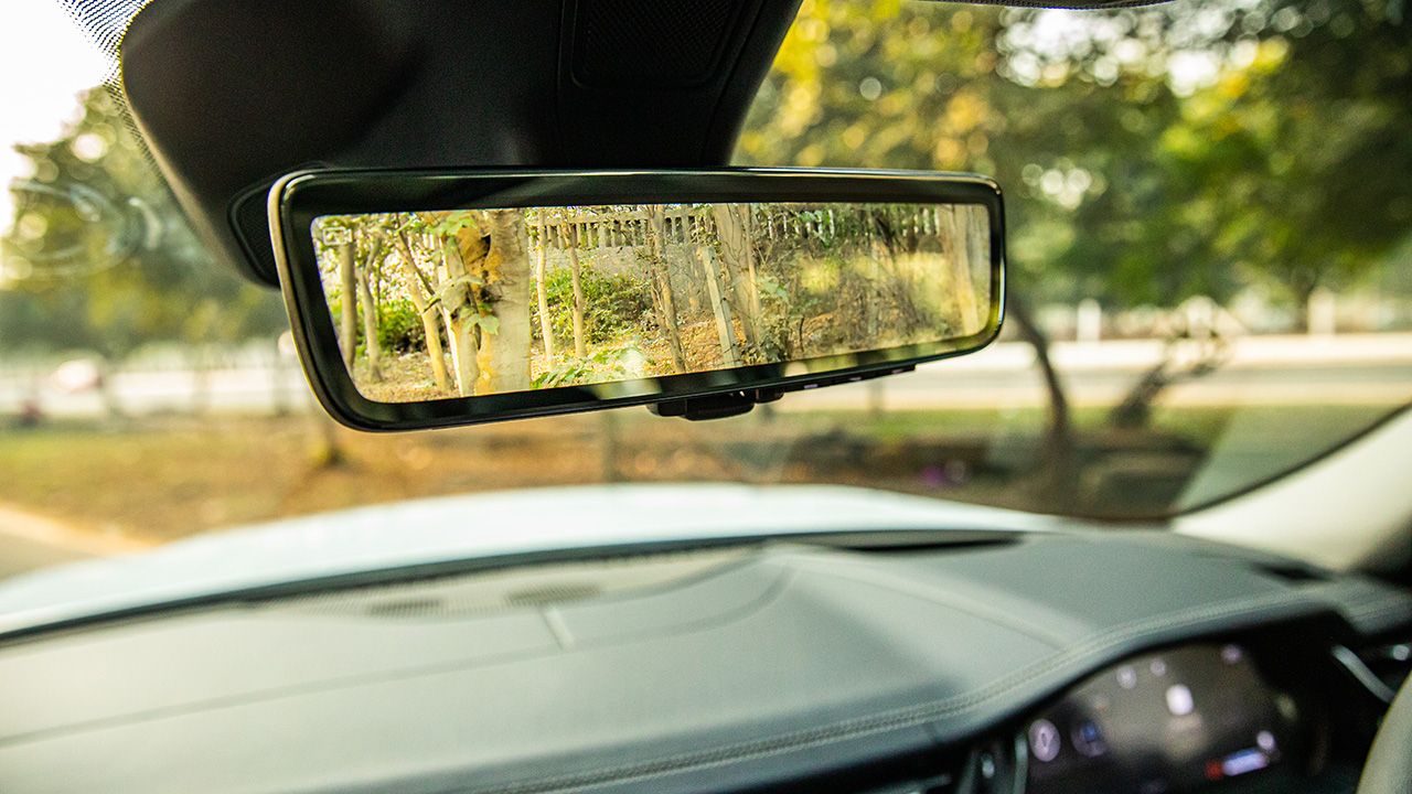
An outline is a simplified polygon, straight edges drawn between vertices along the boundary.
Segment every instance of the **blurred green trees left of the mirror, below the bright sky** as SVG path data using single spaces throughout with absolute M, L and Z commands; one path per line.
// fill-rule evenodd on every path
M 27 226 L 45 229 L 45 249 L 85 243 L 62 271 L 0 274 L 0 353 L 120 359 L 152 342 L 232 343 L 288 328 L 278 292 L 210 261 L 106 89 L 82 97 L 80 116 L 59 140 L 18 151 L 41 185 L 126 209 L 113 225 L 79 229 L 83 206 L 75 213 L 73 205 L 16 202 L 17 213 L 32 216 L 18 218 L 0 240 L 4 273 L 34 259 L 34 242 L 18 239 Z

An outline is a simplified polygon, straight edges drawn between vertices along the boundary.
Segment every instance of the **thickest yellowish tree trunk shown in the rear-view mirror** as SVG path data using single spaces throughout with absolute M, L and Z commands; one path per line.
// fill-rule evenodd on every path
M 534 281 L 524 212 L 493 209 L 484 216 L 490 232 L 486 292 L 497 324 L 493 331 L 480 328 L 476 394 L 524 391 L 530 389 L 530 284 Z

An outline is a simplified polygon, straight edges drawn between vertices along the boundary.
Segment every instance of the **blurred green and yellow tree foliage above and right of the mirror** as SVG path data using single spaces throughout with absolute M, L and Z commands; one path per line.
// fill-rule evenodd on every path
M 737 158 L 993 174 L 1011 285 L 1048 300 L 1175 305 L 1267 281 L 1299 302 L 1412 225 L 1402 6 L 805 0 Z

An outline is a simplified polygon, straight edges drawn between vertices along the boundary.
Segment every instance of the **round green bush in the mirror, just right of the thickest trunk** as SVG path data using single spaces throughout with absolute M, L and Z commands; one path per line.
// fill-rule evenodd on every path
M 580 268 L 583 290 L 583 333 L 590 345 L 611 343 L 635 331 L 652 311 L 652 295 L 647 281 L 626 273 L 606 273 L 587 263 Z M 561 267 L 545 274 L 545 295 L 549 304 L 549 328 L 561 349 L 573 349 L 573 275 Z M 535 309 L 538 318 L 538 309 Z M 535 338 L 539 324 L 535 319 Z

